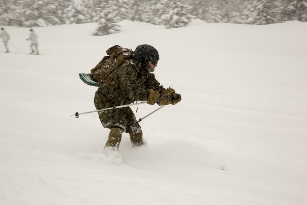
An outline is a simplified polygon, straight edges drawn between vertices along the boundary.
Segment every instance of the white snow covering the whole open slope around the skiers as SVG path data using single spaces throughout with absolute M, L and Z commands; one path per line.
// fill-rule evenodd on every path
M 34 28 L 39 56 L 27 55 L 28 28 L 5 26 L 0 204 L 307 204 L 306 22 L 119 24 L 99 37 L 96 23 Z M 119 156 L 104 156 L 97 113 L 71 116 L 95 110 L 96 88 L 78 74 L 113 45 L 145 43 L 182 101 L 140 122 L 146 147 L 124 133 Z

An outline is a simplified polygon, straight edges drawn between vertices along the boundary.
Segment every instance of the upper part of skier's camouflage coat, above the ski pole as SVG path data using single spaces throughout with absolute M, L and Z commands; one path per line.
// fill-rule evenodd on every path
M 165 90 L 154 74 L 142 67 L 133 56 L 115 69 L 107 80 L 113 83 L 103 83 L 99 86 L 95 94 L 95 98 L 98 99 L 95 99 L 95 102 L 99 101 L 108 106 L 147 101 L 149 89 L 158 90 L 159 93 Z M 100 106 L 105 107 L 104 105 Z

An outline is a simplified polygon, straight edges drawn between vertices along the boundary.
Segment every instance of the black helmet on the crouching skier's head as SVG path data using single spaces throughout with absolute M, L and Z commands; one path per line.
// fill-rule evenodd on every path
M 148 44 L 138 45 L 135 49 L 135 58 L 139 61 L 158 61 L 159 53 L 157 49 Z

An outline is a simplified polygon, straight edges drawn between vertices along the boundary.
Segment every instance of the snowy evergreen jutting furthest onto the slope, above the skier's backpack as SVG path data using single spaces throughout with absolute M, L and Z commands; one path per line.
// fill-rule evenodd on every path
M 113 10 L 107 3 L 102 3 L 99 8 L 99 16 L 97 18 L 98 28 L 93 33 L 94 36 L 103 36 L 108 34 L 114 34 L 119 31 L 115 15 Z

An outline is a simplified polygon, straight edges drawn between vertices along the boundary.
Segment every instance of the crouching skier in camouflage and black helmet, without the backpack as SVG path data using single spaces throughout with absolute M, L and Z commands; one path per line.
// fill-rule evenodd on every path
M 159 106 L 177 104 L 181 95 L 172 88 L 165 89 L 151 73 L 157 67 L 159 53 L 151 45 L 139 45 L 135 55 L 115 69 L 107 79 L 107 83 L 99 86 L 95 93 L 94 104 L 97 110 L 110 108 L 134 101 L 157 103 Z M 104 150 L 119 148 L 122 133 L 130 135 L 133 147 L 144 144 L 142 129 L 130 107 L 101 111 L 99 119 L 105 128 L 110 129 Z

